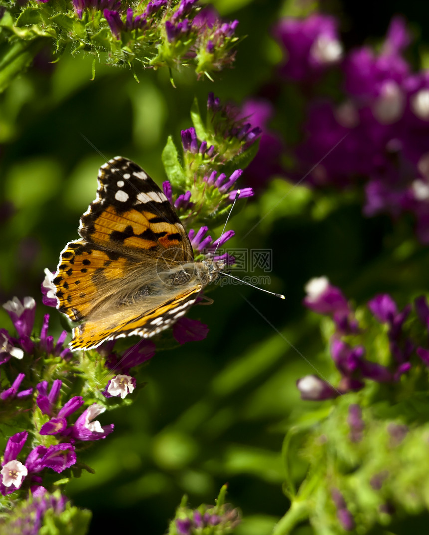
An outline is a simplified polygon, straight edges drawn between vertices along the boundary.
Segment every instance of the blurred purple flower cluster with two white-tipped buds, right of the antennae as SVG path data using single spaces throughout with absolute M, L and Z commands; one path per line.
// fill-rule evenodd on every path
M 368 309 L 372 316 L 380 324 L 387 325 L 392 362 L 389 366 L 385 366 L 368 360 L 365 357 L 366 348 L 363 345 L 350 345 L 350 336 L 358 336 L 362 331 L 353 309 L 339 288 L 332 286 L 325 277 L 321 277 L 311 280 L 306 290 L 307 296 L 304 304 L 318 314 L 329 315 L 333 319 L 336 330 L 330 341 L 330 352 L 341 379 L 337 387 L 315 375 L 299 379 L 297 386 L 302 399 L 336 398 L 340 394 L 360 390 L 365 384 L 365 379 L 371 379 L 377 383 L 398 381 L 401 375 L 410 369 L 410 357 L 414 351 L 425 364 L 429 365 L 429 358 L 426 358 L 429 357 L 429 350 L 423 347 L 416 348 L 416 344 L 403 328 L 411 311 L 410 305 L 399 311 L 392 297 L 387 294 L 376 295 L 368 302 Z M 416 300 L 416 310 L 423 321 L 429 321 L 429 308 L 423 297 Z M 350 415 L 350 418 L 356 422 L 357 414 Z M 356 432 L 358 431 L 357 429 Z

